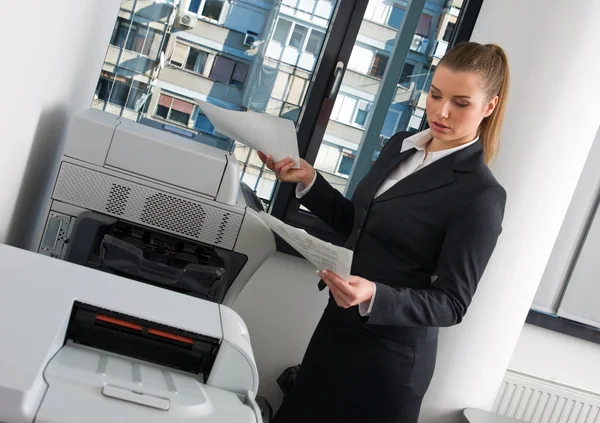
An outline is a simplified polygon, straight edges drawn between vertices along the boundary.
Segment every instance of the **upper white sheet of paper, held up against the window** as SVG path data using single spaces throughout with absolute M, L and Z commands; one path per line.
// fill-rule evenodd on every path
M 223 109 L 201 100 L 198 105 L 217 132 L 270 154 L 276 162 L 291 156 L 296 160 L 294 167 L 300 167 L 296 127 L 291 120 L 266 113 Z

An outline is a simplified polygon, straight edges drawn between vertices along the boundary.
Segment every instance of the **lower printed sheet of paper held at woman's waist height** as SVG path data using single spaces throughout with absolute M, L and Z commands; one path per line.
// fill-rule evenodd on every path
M 352 251 L 316 238 L 302 229 L 286 225 L 279 219 L 262 212 L 263 221 L 277 235 L 304 256 L 317 270 L 331 270 L 348 280 L 352 265 Z

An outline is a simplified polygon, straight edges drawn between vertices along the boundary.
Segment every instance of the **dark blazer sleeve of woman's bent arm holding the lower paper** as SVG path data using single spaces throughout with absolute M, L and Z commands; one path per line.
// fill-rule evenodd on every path
M 506 192 L 487 188 L 450 224 L 427 289 L 376 283 L 372 325 L 446 327 L 462 321 L 502 231 Z

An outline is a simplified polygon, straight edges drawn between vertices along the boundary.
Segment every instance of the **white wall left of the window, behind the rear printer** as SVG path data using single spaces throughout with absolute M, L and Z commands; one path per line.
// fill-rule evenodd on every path
M 120 0 L 2 3 L 0 243 L 27 246 L 70 116 L 91 105 Z

